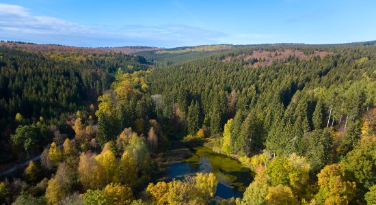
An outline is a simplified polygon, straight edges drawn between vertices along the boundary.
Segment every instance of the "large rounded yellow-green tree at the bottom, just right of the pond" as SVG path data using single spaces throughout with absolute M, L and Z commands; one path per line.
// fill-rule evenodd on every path
M 310 171 L 306 159 L 295 153 L 273 160 L 265 156 L 255 162 L 257 175 L 245 191 L 241 204 L 276 204 L 278 200 L 282 204 L 298 204 L 299 200 L 304 200 Z

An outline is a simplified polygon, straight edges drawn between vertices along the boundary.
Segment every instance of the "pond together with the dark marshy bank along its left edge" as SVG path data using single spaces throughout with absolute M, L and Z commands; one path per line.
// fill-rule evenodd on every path
M 218 180 L 216 196 L 241 197 L 253 181 L 254 172 L 241 161 L 204 146 L 207 140 L 172 141 L 172 149 L 159 158 L 158 181 L 182 180 L 197 172 L 215 174 Z

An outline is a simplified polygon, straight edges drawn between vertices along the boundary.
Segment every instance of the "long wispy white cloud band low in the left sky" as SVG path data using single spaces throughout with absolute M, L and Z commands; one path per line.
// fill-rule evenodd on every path
M 77 46 L 184 46 L 216 44 L 224 33 L 189 25 L 82 25 L 52 16 L 36 16 L 19 5 L 0 3 L 0 38 Z

